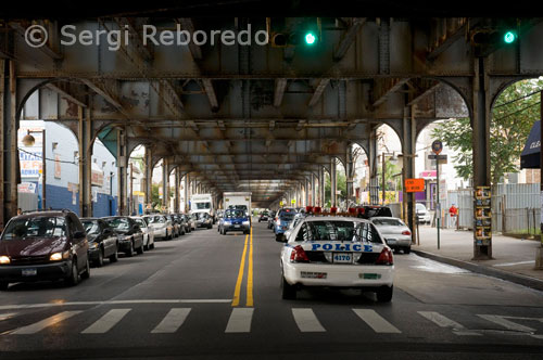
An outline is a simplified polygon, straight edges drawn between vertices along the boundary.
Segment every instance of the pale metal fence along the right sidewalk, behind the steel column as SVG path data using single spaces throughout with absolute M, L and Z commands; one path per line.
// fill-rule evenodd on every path
M 473 190 L 449 191 L 446 205 L 458 207 L 458 226 L 473 228 Z M 443 227 L 452 226 L 449 211 L 443 211 Z M 497 184 L 492 189 L 492 232 L 534 234 L 540 224 L 540 184 Z

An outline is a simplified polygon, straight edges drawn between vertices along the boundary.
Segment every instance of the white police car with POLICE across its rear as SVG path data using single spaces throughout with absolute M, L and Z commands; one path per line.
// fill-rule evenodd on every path
M 303 286 L 359 288 L 379 301 L 392 299 L 392 250 L 368 220 L 308 217 L 282 242 L 283 299 L 294 299 Z

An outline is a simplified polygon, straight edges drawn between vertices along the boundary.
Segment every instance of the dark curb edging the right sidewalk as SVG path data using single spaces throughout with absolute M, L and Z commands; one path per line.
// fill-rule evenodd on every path
M 512 273 L 512 272 L 506 272 L 506 271 L 493 269 L 490 267 L 480 266 L 480 265 L 469 262 L 469 261 L 457 260 L 457 259 L 453 259 L 450 257 L 435 255 L 432 253 L 416 250 L 416 249 L 413 249 L 413 247 L 412 247 L 412 253 L 415 253 L 418 256 L 421 256 L 421 257 L 425 257 L 425 258 L 428 258 L 431 260 L 452 265 L 452 266 L 455 266 L 457 268 L 463 268 L 463 269 L 469 270 L 471 272 L 477 272 L 477 273 L 480 273 L 483 275 L 506 280 L 506 281 L 509 281 L 512 283 L 516 283 L 519 285 L 523 285 L 523 286 L 543 292 L 543 281 L 539 280 L 539 279 L 534 279 L 534 278 L 521 275 L 521 274 L 516 274 L 516 273 Z

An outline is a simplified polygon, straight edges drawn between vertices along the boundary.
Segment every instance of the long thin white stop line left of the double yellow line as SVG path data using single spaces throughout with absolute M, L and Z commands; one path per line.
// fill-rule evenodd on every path
M 52 308 L 58 306 L 79 305 L 119 305 L 119 304 L 231 304 L 232 299 L 139 299 L 139 300 L 111 300 L 111 301 L 71 301 L 71 303 L 43 303 L 2 305 L 1 310 Z

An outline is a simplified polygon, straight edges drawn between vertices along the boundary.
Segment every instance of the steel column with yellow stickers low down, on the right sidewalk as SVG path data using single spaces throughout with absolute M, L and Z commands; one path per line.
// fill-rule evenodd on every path
M 473 189 L 490 187 L 490 99 L 489 78 L 487 76 L 487 57 L 477 57 L 473 76 L 473 113 L 472 113 L 472 147 L 473 147 Z M 475 200 L 473 200 L 475 205 Z M 473 206 L 473 218 L 475 218 Z M 473 227 L 473 259 L 492 259 L 492 239 L 477 241 Z

